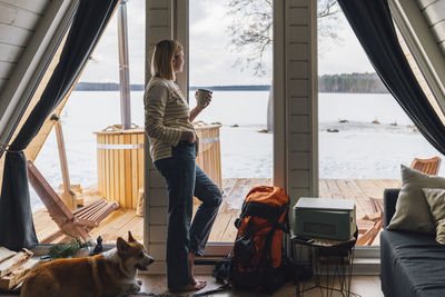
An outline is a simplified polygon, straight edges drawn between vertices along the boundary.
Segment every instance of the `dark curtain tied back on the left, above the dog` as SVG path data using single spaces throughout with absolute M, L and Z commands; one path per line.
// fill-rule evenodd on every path
M 38 244 L 32 221 L 27 160 L 22 150 L 71 89 L 118 2 L 80 0 L 59 63 L 40 101 L 6 154 L 0 198 L 0 246 L 20 250 Z

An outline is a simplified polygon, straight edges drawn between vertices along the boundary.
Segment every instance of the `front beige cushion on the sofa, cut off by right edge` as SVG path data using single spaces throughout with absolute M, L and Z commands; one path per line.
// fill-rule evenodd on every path
M 436 226 L 436 241 L 445 245 L 445 189 L 423 189 Z

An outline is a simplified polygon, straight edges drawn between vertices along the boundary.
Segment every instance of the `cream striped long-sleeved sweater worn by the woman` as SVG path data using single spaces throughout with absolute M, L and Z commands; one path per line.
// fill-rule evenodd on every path
M 194 131 L 187 99 L 172 80 L 152 77 L 145 92 L 146 133 L 152 161 L 171 157 L 185 130 Z

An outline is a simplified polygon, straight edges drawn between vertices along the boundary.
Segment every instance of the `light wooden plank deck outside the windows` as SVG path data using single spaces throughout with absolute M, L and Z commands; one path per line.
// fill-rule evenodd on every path
M 235 219 L 238 217 L 240 206 L 247 191 L 259 185 L 271 185 L 271 179 L 229 178 L 222 180 L 224 202 L 216 218 L 209 241 L 233 242 L 236 236 Z M 325 198 L 354 199 L 357 219 L 373 215 L 369 197 L 383 198 L 385 188 L 399 188 L 400 181 L 393 179 L 322 179 L 319 181 L 319 196 Z M 90 195 L 88 198 L 93 198 Z M 85 197 L 86 200 L 88 200 Z M 196 206 L 197 207 L 197 206 Z M 58 230 L 46 209 L 33 214 L 36 232 L 42 239 Z M 90 235 L 99 235 L 106 244 L 115 244 L 116 239 L 127 237 L 131 230 L 138 240 L 144 238 L 144 218 L 136 215 L 135 209 L 120 208 L 109 215 L 99 227 L 92 229 Z M 379 245 L 378 236 L 373 246 Z

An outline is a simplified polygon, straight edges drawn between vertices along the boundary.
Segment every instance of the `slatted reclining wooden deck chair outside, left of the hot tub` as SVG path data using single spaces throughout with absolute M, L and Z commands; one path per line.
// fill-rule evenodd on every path
M 110 202 L 105 199 L 98 199 L 88 206 L 71 211 L 31 161 L 28 161 L 28 178 L 47 207 L 52 220 L 60 229 L 40 240 L 42 244 L 52 242 L 57 238 L 67 235 L 78 236 L 83 240 L 88 240 L 91 238 L 88 231 L 98 227 L 100 221 L 119 207 L 116 201 Z

